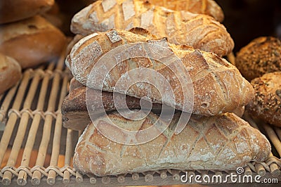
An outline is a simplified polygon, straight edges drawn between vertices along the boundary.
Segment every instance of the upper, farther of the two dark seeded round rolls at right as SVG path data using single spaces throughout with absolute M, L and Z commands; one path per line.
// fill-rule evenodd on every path
M 249 81 L 281 71 L 281 41 L 275 37 L 254 39 L 237 53 L 235 65 Z

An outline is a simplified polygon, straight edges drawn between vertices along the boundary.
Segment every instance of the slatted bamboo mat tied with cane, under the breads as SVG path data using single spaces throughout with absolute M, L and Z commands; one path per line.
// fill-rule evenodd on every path
M 81 132 L 65 129 L 60 105 L 67 95 L 70 72 L 65 58 L 28 69 L 21 81 L 0 96 L 0 182 L 3 185 L 44 186 L 141 186 L 183 184 L 186 171 L 164 169 L 157 172 L 120 176 L 82 176 L 72 167 L 72 156 Z M 280 177 L 281 129 L 244 118 L 273 146 L 266 162 L 251 162 L 244 174 Z M 226 175 L 233 171 L 188 171 L 188 174 Z M 1 186 L 1 185 L 0 185 Z

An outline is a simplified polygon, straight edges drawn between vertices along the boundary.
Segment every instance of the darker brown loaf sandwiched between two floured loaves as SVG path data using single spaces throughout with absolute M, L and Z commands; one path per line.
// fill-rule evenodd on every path
M 88 94 L 87 99 L 91 99 L 91 105 L 93 105 L 95 108 L 95 116 L 103 115 L 104 110 L 105 112 L 116 110 L 116 105 L 118 103 L 115 102 L 119 102 L 119 100 L 114 102 L 112 92 L 102 92 L 103 105 L 100 105 L 98 101 L 98 99 L 100 99 L 98 97 L 100 96 L 99 91 L 95 89 L 87 89 L 86 86 L 79 86 L 70 91 L 68 96 L 66 96 L 63 100 L 63 104 L 61 106 L 61 111 L 63 114 L 63 127 L 73 130 L 83 130 L 85 129 L 86 125 L 91 122 L 86 106 L 86 93 Z M 120 93 L 115 94 L 117 94 L 117 98 L 120 95 Z M 126 96 L 126 105 L 129 109 L 141 109 L 139 98 Z M 152 104 L 153 112 L 159 113 L 161 112 L 161 108 L 162 105 L 159 103 Z M 143 109 L 145 110 L 145 108 Z

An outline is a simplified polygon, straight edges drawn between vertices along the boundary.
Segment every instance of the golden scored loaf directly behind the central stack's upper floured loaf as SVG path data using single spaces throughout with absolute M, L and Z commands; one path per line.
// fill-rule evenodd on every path
M 234 47 L 226 28 L 211 16 L 171 11 L 152 6 L 148 1 L 96 1 L 74 15 L 71 23 L 72 32 L 82 35 L 132 27 L 142 27 L 157 37 L 167 37 L 171 43 L 193 46 L 218 56 L 227 55 Z

